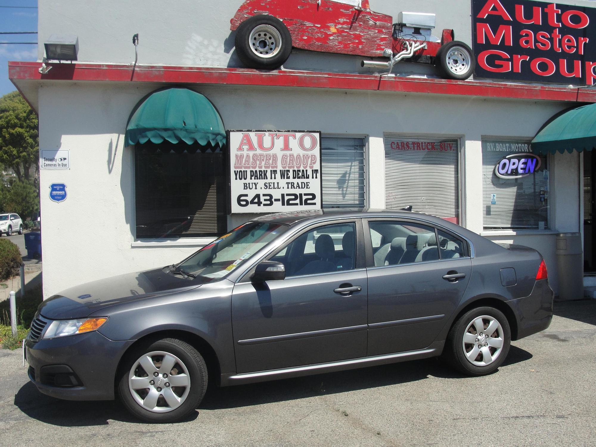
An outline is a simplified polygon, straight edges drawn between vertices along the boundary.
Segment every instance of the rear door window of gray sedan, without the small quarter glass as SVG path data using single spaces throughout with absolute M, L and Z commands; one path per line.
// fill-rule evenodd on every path
M 439 259 L 439 249 L 434 228 L 411 222 L 368 222 L 371 239 L 378 239 L 378 248 L 373 244 L 374 265 L 409 264 Z

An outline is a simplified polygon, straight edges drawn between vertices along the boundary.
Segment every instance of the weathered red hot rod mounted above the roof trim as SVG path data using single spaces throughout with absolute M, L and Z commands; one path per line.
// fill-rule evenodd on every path
M 471 49 L 454 41 L 454 32 L 441 38 L 430 34 L 434 14 L 371 11 L 368 0 L 246 0 L 232 18 L 238 57 L 247 67 L 277 69 L 291 48 L 389 61 L 362 61 L 362 66 L 393 69 L 400 60 L 434 63 L 439 73 L 467 79 L 474 70 Z

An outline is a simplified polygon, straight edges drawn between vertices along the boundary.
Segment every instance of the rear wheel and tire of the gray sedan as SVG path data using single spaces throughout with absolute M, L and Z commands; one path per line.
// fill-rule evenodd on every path
M 461 373 L 486 375 L 501 366 L 510 345 L 511 330 L 505 315 L 491 307 L 475 308 L 461 315 L 451 327 L 443 358 Z

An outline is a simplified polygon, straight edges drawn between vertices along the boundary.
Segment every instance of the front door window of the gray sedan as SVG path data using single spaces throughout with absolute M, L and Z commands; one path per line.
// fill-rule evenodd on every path
M 356 224 L 314 228 L 270 259 L 284 264 L 286 277 L 353 270 L 356 268 Z

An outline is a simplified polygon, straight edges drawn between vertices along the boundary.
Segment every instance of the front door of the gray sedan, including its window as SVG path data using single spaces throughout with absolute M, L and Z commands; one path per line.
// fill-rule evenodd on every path
M 268 257 L 284 263 L 285 280 L 235 285 L 237 373 L 366 355 L 367 273 L 356 262 L 364 259 L 357 231 L 362 237 L 359 220 L 309 228 Z

